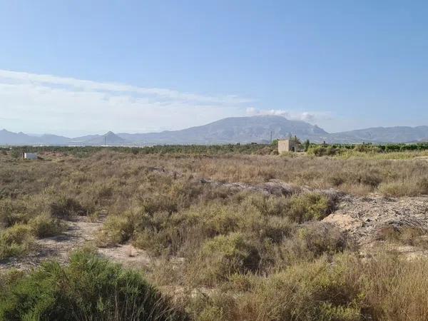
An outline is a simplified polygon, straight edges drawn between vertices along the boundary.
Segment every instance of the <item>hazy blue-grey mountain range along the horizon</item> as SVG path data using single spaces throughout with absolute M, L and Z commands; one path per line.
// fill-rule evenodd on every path
M 1 146 L 148 146 L 156 144 L 223 144 L 268 143 L 270 139 L 297 136 L 320 143 L 413 143 L 428 141 L 428 126 L 375 127 L 327 133 L 324 129 L 306 123 L 291 121 L 282 116 L 250 116 L 220 119 L 203 126 L 161 133 L 113 133 L 76 138 L 44 134 L 0 131 Z

